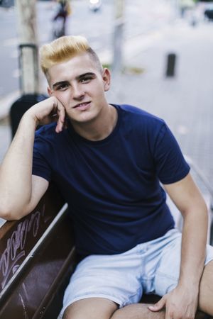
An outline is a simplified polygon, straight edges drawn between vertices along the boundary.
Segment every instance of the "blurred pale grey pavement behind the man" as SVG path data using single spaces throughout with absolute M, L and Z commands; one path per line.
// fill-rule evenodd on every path
M 131 103 L 164 118 L 184 154 L 209 181 L 213 179 L 212 30 L 212 23 L 195 28 L 177 23 L 159 33 L 132 39 L 124 50 L 127 71 L 113 76 L 107 93 L 109 103 Z M 165 77 L 169 52 L 177 55 L 173 78 Z M 101 57 L 106 62 L 108 52 L 102 52 Z M 131 72 L 133 69 L 143 72 L 136 74 Z M 11 106 L 11 100 L 7 105 Z M 6 101 L 0 101 L 0 112 L 6 115 Z M 1 162 L 10 141 L 7 125 L 0 125 L 0 138 Z M 200 179 L 198 184 L 206 193 Z

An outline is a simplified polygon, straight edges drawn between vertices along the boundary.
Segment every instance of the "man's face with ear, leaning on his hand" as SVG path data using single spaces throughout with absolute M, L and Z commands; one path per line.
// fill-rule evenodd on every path
M 109 70 L 99 70 L 87 53 L 50 67 L 48 74 L 48 93 L 62 103 L 71 121 L 91 121 L 107 105 L 104 91 L 109 89 Z

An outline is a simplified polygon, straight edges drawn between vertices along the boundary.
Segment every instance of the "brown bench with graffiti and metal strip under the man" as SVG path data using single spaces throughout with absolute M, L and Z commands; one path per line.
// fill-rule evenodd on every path
M 55 186 L 31 214 L 4 223 L 0 239 L 0 319 L 57 318 L 76 256 L 67 204 Z

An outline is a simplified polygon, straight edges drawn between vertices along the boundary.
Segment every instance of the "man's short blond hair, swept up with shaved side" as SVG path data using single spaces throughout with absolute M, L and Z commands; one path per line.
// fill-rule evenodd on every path
M 97 67 L 102 70 L 99 57 L 89 46 L 87 39 L 81 35 L 65 35 L 40 47 L 40 67 L 47 77 L 48 69 L 53 65 L 86 52 L 91 55 Z

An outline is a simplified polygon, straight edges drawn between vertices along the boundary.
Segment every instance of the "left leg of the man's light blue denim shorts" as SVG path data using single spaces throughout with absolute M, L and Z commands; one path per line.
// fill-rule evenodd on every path
M 119 306 L 140 301 L 142 288 L 138 281 L 141 258 L 132 252 L 117 255 L 92 255 L 77 265 L 67 285 L 62 314 L 68 306 L 86 298 L 104 298 Z

